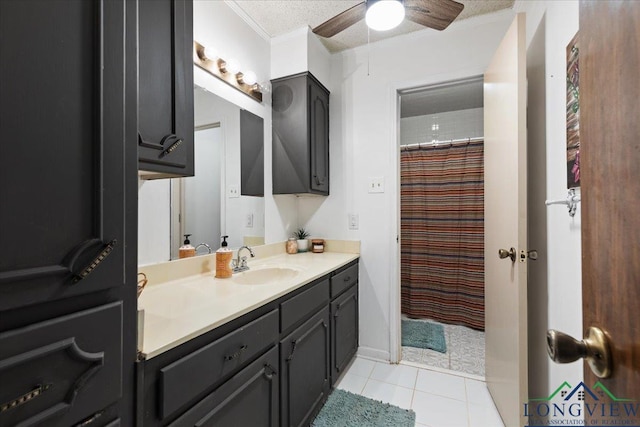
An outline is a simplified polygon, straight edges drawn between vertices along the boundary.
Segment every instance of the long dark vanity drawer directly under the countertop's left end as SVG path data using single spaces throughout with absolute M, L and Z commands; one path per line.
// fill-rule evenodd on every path
M 166 418 L 278 342 L 278 310 L 160 369 L 160 416 Z

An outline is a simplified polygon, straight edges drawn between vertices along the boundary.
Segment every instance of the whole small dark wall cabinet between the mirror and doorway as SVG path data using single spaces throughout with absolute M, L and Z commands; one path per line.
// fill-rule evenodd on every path
M 329 91 L 311 73 L 272 80 L 273 194 L 329 195 Z

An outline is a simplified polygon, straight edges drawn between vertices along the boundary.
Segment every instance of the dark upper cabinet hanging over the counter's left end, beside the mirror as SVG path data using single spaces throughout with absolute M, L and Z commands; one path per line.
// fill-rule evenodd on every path
M 193 176 L 193 2 L 138 4 L 139 169 L 144 178 Z

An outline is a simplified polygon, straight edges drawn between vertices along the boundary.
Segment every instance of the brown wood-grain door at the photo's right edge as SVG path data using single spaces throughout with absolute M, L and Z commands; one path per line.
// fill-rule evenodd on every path
M 637 404 L 640 2 L 581 1 L 579 47 L 583 325 L 600 327 L 611 340 L 613 373 L 602 384 Z M 585 364 L 585 384 L 598 380 Z M 585 415 L 585 425 L 598 418 Z M 640 411 L 619 419 L 638 425 Z

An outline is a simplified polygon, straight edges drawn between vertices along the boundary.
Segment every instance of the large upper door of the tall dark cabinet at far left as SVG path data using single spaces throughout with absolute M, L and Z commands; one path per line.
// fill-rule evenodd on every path
M 0 311 L 123 283 L 124 25 L 124 1 L 0 3 Z

